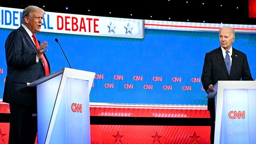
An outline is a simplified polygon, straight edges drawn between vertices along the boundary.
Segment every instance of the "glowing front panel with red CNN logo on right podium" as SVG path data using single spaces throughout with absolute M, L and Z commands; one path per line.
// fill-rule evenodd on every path
M 249 144 L 249 94 L 248 90 L 224 90 L 225 144 Z M 223 118 L 224 120 L 224 118 Z M 224 127 L 224 125 L 223 125 Z M 224 131 L 223 131 L 224 132 Z M 223 135 L 223 132 L 220 135 Z

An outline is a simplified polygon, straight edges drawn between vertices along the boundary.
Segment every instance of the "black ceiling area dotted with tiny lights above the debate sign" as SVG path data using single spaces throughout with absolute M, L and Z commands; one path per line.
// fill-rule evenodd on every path
M 36 5 L 46 12 L 216 24 L 256 24 L 248 0 L 5 0 L 2 7 Z M 66 7 L 68 9 L 66 9 Z

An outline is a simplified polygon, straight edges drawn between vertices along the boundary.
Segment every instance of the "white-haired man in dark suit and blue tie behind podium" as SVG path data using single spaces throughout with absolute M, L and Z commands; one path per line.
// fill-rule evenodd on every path
M 223 26 L 219 30 L 220 47 L 205 54 L 201 81 L 204 90 L 213 91 L 218 80 L 253 80 L 243 52 L 232 47 L 235 41 L 235 31 L 232 27 Z M 211 144 L 214 142 L 215 100 L 208 99 L 208 110 L 211 116 Z

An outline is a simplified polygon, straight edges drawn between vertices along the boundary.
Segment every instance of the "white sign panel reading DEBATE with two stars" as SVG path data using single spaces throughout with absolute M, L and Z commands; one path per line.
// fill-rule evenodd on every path
M 21 26 L 23 9 L 0 7 L 0 28 Z M 46 12 L 42 32 L 144 38 L 144 20 Z

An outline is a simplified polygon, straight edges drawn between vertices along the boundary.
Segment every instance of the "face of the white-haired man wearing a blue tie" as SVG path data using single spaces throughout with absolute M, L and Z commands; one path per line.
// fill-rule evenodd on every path
M 225 28 L 220 30 L 219 33 L 220 46 L 225 50 L 229 50 L 232 42 L 235 40 L 235 36 L 232 36 L 232 30 L 230 28 Z

